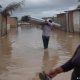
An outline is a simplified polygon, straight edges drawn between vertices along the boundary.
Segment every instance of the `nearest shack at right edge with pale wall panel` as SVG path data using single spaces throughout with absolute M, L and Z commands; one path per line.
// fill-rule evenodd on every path
M 67 11 L 69 32 L 80 32 L 80 9 Z

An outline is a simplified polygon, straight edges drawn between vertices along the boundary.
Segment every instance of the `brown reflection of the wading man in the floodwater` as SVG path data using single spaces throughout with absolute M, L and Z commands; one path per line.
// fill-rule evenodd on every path
M 43 71 L 49 72 L 58 61 L 58 56 L 53 55 L 52 59 L 49 56 L 49 50 L 44 51 L 43 55 Z

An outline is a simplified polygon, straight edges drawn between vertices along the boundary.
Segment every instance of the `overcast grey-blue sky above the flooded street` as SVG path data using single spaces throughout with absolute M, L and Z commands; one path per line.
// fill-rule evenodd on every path
M 12 2 L 20 2 L 22 0 L 0 0 L 2 7 Z M 46 16 L 54 16 L 65 10 L 74 8 L 78 4 L 78 0 L 23 0 L 24 5 L 21 9 L 13 12 L 13 16 L 21 17 L 30 15 L 35 18 Z

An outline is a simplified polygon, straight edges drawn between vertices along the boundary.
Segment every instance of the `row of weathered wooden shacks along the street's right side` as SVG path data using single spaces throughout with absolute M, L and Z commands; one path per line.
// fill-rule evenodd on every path
M 80 32 L 80 8 L 57 14 L 57 20 L 62 25 L 61 29 L 67 32 Z

